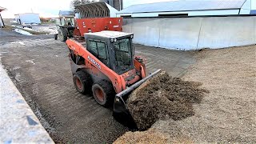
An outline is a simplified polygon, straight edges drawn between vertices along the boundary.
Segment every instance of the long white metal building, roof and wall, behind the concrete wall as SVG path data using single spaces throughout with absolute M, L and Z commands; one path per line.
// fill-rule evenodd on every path
M 254 14 L 256 0 L 170 1 L 129 6 L 117 17 L 187 17 Z

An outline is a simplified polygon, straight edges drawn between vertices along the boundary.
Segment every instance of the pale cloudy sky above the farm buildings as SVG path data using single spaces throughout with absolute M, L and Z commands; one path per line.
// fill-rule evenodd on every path
M 124 7 L 152 2 L 166 2 L 170 0 L 123 0 Z M 0 0 L 2 18 L 14 18 L 14 14 L 38 13 L 42 17 L 58 17 L 59 10 L 70 10 L 71 0 Z

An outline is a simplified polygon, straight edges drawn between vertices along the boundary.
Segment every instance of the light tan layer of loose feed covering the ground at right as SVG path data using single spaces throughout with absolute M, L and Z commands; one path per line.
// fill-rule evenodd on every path
M 196 58 L 182 79 L 202 82 L 210 93 L 193 106 L 194 116 L 159 120 L 150 130 L 165 135 L 168 143 L 256 143 L 256 46 L 202 50 Z M 133 137 L 126 133 L 116 142 Z

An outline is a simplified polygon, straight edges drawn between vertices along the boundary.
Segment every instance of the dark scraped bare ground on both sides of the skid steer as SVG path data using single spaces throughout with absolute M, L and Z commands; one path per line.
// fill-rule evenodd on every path
M 193 52 L 135 49 L 146 57 L 148 73 L 164 66 L 170 75 L 182 75 L 196 62 Z M 54 142 L 114 142 L 128 128 L 114 120 L 112 110 L 75 90 L 67 54 L 66 44 L 53 35 L 24 36 L 0 29 L 1 63 Z

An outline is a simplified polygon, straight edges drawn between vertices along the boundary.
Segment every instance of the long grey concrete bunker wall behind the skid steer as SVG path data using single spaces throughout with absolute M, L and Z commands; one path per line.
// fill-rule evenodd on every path
M 124 18 L 134 43 L 174 50 L 217 49 L 256 43 L 256 16 Z

